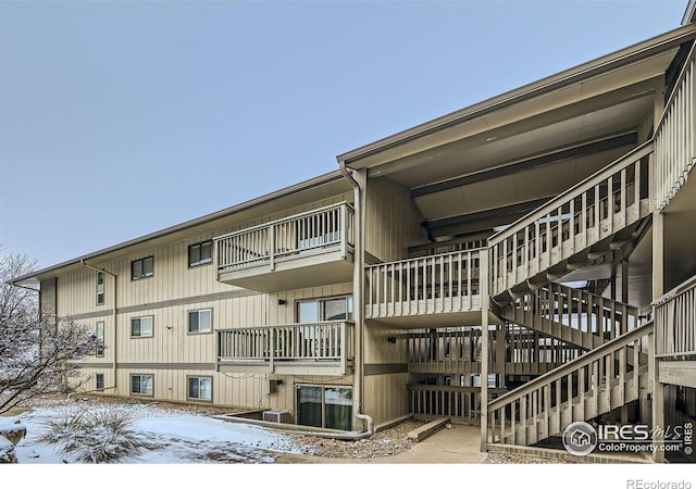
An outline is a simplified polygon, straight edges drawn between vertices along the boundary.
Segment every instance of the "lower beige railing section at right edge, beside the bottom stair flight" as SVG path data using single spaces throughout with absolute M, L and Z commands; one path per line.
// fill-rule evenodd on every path
M 655 355 L 696 354 L 696 276 L 655 301 Z

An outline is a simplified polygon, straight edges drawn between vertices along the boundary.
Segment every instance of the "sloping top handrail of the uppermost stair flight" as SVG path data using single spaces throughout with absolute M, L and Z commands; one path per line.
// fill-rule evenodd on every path
M 571 195 L 591 189 L 594 185 L 605 180 L 608 175 L 612 175 L 612 174 L 616 174 L 617 172 L 620 172 L 621 170 L 635 163 L 637 160 L 650 154 L 650 152 L 652 152 L 652 139 L 644 142 L 643 145 L 633 149 L 631 152 L 624 154 L 623 156 L 618 158 L 617 160 L 614 160 L 613 162 L 609 163 L 607 166 L 601 168 L 599 172 L 596 172 L 593 175 L 585 178 L 584 180 L 575 184 L 564 192 L 558 195 L 557 197 L 546 202 L 545 204 L 540 205 L 539 208 L 535 209 L 529 214 L 520 217 L 519 220 L 513 222 L 510 226 L 490 236 L 488 238 L 488 248 L 493 248 L 504 239 L 509 238 L 510 235 L 521 230 L 522 228 L 524 228 L 525 225 L 532 224 L 536 216 L 546 215 L 548 214 L 548 211 L 558 209 L 560 206 L 559 205 L 560 202 L 567 200 Z

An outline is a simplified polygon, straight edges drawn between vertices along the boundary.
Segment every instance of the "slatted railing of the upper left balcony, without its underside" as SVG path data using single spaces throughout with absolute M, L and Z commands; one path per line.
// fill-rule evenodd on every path
M 328 205 L 215 238 L 220 272 L 276 262 L 312 252 L 339 249 L 345 258 L 353 247 L 353 209 Z

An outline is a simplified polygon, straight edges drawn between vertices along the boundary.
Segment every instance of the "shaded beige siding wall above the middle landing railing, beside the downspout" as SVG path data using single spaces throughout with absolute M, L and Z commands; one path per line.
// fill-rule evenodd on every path
M 426 242 L 423 216 L 409 190 L 387 178 L 368 183 L 365 251 L 383 262 L 408 258 L 408 248 Z

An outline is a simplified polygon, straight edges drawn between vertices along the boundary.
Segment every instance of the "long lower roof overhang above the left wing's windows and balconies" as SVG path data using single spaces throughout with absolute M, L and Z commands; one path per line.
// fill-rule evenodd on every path
M 98 265 L 99 263 L 105 263 L 140 250 L 151 249 L 166 242 L 173 242 L 179 239 L 186 239 L 209 231 L 214 231 L 221 227 L 235 226 L 237 224 L 243 224 L 273 213 L 287 211 L 294 206 L 335 197 L 351 190 L 352 187 L 348 184 L 341 173 L 339 171 L 334 171 L 265 196 L 248 200 L 222 211 L 207 214 L 204 216 L 177 224 L 176 226 L 167 227 L 113 247 L 104 248 L 103 250 L 95 251 L 47 268 L 22 275 L 20 277 L 14 277 L 10 280 L 10 284 L 37 284 L 42 279 L 57 277 L 60 274 L 83 267 L 83 261 L 89 261 L 90 265 Z

